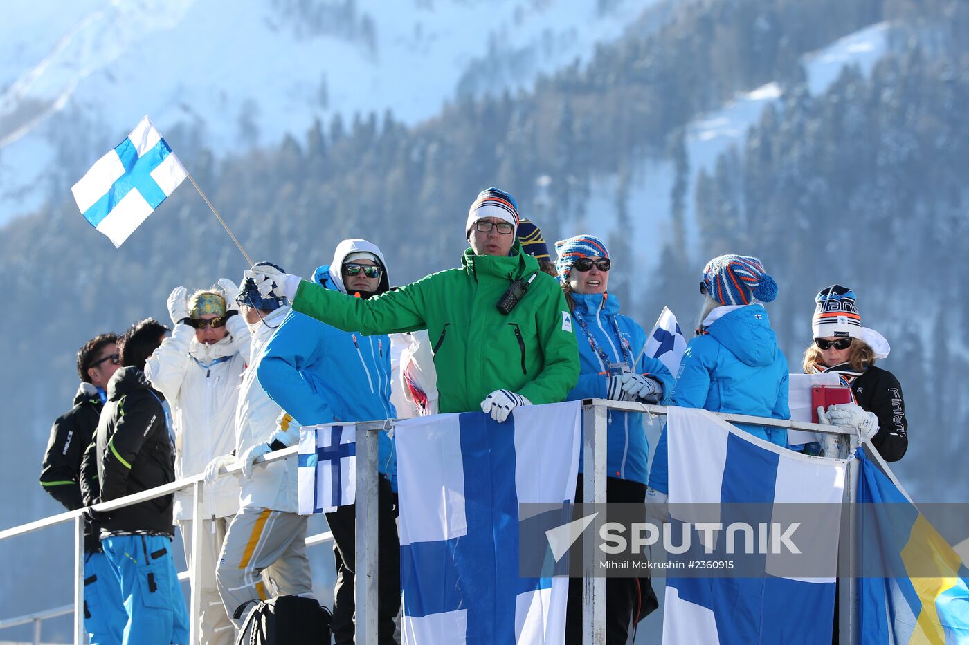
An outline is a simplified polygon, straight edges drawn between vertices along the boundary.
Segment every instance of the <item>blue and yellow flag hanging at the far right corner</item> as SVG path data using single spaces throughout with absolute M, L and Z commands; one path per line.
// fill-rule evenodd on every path
M 891 479 L 860 459 L 856 639 L 969 643 L 969 570 Z

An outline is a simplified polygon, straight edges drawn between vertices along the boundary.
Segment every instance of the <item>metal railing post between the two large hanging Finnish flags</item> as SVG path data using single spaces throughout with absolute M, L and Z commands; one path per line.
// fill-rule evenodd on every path
M 601 505 L 606 502 L 606 430 L 608 411 L 602 404 L 584 407 L 582 412 L 582 503 Z M 585 512 L 590 512 L 591 507 Z M 605 518 L 599 514 L 592 521 L 591 534 L 598 536 Z M 606 578 L 597 576 L 595 539 L 585 539 L 582 550 L 582 643 L 606 643 Z

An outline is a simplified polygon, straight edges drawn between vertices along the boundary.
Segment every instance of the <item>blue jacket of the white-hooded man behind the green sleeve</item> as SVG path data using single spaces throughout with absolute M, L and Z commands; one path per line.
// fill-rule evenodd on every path
M 334 289 L 329 266 L 313 281 Z M 299 425 L 393 418 L 391 338 L 341 331 L 291 311 L 263 351 L 259 382 Z M 379 470 L 395 486 L 391 439 L 380 433 Z

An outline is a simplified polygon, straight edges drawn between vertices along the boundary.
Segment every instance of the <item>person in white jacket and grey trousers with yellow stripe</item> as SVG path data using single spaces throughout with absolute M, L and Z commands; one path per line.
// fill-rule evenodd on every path
M 219 557 L 219 593 L 226 612 L 241 626 L 248 609 L 270 596 L 313 597 L 313 578 L 306 557 L 307 518 L 298 514 L 295 457 L 254 468 L 266 446 L 293 445 L 298 425 L 266 394 L 257 370 L 263 348 L 290 312 L 285 298 L 263 298 L 251 280 L 239 295 L 242 318 L 252 330 L 253 362 L 242 375 L 235 409 L 235 451 L 216 457 L 205 469 L 205 481 L 223 477 L 221 470 L 242 462 L 239 510 L 229 526 Z M 266 575 L 267 574 L 267 575 Z M 266 589 L 266 578 L 271 589 Z

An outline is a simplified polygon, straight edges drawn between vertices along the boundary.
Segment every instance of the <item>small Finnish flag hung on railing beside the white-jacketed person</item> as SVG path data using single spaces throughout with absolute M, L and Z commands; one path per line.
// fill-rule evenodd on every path
M 299 428 L 299 514 L 328 513 L 357 496 L 357 426 Z

